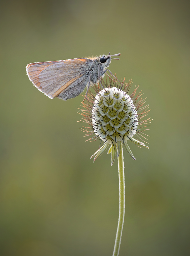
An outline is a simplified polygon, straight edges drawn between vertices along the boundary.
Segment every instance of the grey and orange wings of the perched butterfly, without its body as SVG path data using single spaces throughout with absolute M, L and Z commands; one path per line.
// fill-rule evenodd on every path
M 84 80 L 91 62 L 86 58 L 37 62 L 28 64 L 26 69 L 33 85 L 49 98 L 54 98 L 73 84 L 76 86 L 77 80 Z

